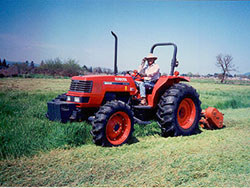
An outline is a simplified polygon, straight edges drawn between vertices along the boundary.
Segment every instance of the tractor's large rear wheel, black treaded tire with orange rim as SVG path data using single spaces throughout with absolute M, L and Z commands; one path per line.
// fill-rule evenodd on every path
M 200 132 L 199 94 L 183 83 L 171 86 L 161 97 L 157 117 L 162 136 L 186 136 Z

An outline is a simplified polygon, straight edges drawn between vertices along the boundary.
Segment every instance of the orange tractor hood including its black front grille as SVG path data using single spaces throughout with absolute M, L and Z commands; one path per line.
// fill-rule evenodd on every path
M 88 105 L 96 107 L 102 103 L 106 93 L 125 92 L 128 95 L 134 95 L 136 91 L 135 82 L 129 75 L 88 75 L 72 77 L 71 85 L 66 95 L 69 98 L 89 98 Z M 71 101 L 73 102 L 73 100 Z M 79 105 L 85 105 L 80 103 L 81 100 L 79 100 Z

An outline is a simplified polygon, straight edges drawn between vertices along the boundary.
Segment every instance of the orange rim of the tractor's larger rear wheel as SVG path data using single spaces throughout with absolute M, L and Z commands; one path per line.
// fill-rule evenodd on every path
M 196 108 L 192 99 L 184 98 L 177 111 L 177 120 L 183 129 L 188 129 L 194 123 Z

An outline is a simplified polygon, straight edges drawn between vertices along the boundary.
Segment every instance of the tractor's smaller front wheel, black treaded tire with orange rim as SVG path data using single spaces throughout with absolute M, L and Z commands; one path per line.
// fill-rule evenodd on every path
M 122 101 L 107 102 L 92 121 L 93 141 L 100 146 L 120 146 L 129 140 L 133 131 L 133 112 Z

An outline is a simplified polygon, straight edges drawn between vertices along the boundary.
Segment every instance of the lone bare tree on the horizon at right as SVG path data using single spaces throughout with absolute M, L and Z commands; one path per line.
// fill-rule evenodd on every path
M 230 74 L 231 71 L 236 71 L 235 65 L 233 64 L 233 57 L 231 55 L 222 55 L 219 54 L 216 56 L 216 63 L 215 65 L 219 67 L 222 71 L 221 73 L 221 83 L 224 83 L 226 77 L 228 74 Z

